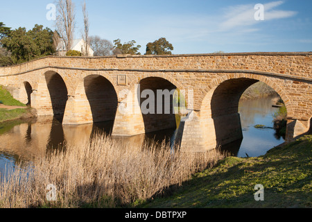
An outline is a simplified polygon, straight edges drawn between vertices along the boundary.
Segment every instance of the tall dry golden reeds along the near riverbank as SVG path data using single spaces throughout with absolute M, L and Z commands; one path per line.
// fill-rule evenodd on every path
M 218 151 L 186 153 L 164 143 L 138 146 L 96 135 L 8 170 L 0 207 L 121 207 L 181 185 L 222 158 Z M 50 184 L 56 201 L 46 198 Z

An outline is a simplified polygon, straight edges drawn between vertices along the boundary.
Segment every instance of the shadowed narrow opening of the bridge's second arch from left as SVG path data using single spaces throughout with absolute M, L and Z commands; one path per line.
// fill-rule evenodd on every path
M 46 85 L 49 89 L 53 114 L 58 116 L 62 121 L 68 99 L 66 84 L 60 74 L 54 71 L 47 72 L 45 78 Z

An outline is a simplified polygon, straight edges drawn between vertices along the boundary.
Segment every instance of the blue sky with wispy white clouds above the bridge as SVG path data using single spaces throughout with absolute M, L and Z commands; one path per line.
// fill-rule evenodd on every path
M 76 5 L 76 38 L 83 28 Z M 173 53 L 312 51 L 311 0 L 86 0 L 90 35 L 146 44 L 166 37 Z M 35 24 L 54 29 L 46 6 L 55 0 L 3 1 L 0 22 L 13 29 Z M 264 20 L 254 19 L 254 6 L 264 6 Z M 4 9 L 4 10 L 3 10 Z

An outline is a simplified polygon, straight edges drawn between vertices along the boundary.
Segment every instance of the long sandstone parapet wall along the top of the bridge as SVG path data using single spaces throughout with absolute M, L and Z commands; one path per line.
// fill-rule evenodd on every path
M 48 56 L 21 65 L 1 67 L 0 76 L 19 75 L 46 67 L 107 71 L 244 70 L 312 78 L 312 52 L 105 57 Z

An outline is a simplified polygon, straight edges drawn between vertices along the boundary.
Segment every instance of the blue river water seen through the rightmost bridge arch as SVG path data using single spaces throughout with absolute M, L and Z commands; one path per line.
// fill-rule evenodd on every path
M 283 137 L 277 135 L 273 128 L 273 114 L 278 108 L 272 107 L 272 100 L 276 96 L 240 101 L 239 113 L 243 140 L 228 144 L 225 150 L 232 151 L 237 157 L 259 157 L 265 155 L 271 148 L 285 142 Z M 255 128 L 263 125 L 263 128 Z

